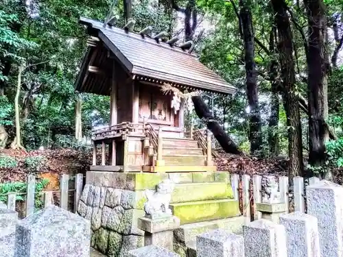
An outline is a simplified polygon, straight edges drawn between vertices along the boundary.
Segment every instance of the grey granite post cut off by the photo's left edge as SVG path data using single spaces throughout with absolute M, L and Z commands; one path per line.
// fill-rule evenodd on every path
M 0 257 L 14 256 L 15 230 L 18 213 L 0 208 Z

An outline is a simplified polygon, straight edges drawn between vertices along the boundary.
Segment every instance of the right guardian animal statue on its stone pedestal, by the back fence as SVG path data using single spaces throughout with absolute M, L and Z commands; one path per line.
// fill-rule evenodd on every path
M 262 178 L 262 202 L 256 204 L 256 210 L 261 212 L 262 219 L 279 223 L 280 215 L 287 211 L 287 204 L 281 202 L 281 194 L 274 176 Z

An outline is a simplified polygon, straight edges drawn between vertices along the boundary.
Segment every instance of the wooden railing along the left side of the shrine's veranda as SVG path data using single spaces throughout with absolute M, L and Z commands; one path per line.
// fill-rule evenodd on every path
M 143 134 L 143 125 L 138 123 L 120 123 L 99 130 L 93 130 L 94 140 L 114 138 L 123 134 Z

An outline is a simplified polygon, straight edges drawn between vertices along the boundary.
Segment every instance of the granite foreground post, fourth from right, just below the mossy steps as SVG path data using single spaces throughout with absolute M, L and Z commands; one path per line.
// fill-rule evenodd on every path
M 226 230 L 211 230 L 196 238 L 197 257 L 244 256 L 243 236 Z

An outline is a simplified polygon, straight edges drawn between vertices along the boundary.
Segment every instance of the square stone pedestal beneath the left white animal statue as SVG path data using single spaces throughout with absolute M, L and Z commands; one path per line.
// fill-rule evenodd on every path
M 144 231 L 144 245 L 158 245 L 173 251 L 174 230 L 180 228 L 175 216 L 138 219 L 138 228 Z

